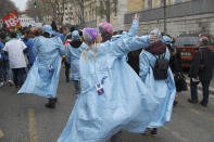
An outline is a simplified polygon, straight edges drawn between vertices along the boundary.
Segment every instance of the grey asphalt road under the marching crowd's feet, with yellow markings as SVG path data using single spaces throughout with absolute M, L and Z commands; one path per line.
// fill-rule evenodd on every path
M 0 142 L 56 141 L 76 99 L 73 85 L 65 82 L 63 72 L 64 68 L 61 72 L 55 109 L 43 106 L 47 99 L 16 94 L 17 89 L 12 87 L 0 88 L 0 129 L 4 132 Z M 200 104 L 189 104 L 189 91 L 179 94 L 172 121 L 160 128 L 158 135 L 123 131 L 123 142 L 214 142 L 214 95 L 210 96 L 206 108 Z

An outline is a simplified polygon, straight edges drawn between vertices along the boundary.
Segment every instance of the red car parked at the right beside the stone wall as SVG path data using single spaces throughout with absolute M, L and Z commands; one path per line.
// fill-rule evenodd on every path
M 211 35 L 200 35 L 205 36 L 210 40 L 210 48 L 214 50 L 214 38 Z M 199 35 L 180 35 L 177 37 L 175 47 L 180 51 L 181 61 L 182 61 L 182 68 L 190 68 L 191 61 L 199 50 L 200 43 L 200 36 Z

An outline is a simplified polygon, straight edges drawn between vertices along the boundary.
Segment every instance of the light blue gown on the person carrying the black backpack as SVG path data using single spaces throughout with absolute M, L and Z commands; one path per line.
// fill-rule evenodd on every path
M 158 57 L 158 55 L 155 55 Z M 169 61 L 169 52 L 166 49 L 165 57 Z M 154 118 L 150 122 L 149 128 L 158 128 L 171 120 L 173 103 L 175 100 L 176 88 L 174 76 L 168 68 L 168 77 L 166 80 L 155 80 L 152 67 L 156 59 L 150 52 L 142 50 L 140 53 L 140 73 L 139 76 L 149 90 L 149 95 L 155 98 L 160 103 L 159 108 L 154 113 Z M 151 67 L 152 66 L 152 67 Z

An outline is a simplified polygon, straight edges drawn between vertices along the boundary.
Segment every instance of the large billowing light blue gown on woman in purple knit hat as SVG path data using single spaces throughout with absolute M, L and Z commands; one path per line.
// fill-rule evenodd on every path
M 117 131 L 144 132 L 159 103 L 124 55 L 149 46 L 149 36 L 122 36 L 80 56 L 81 93 L 58 142 L 104 142 Z M 102 83 L 99 95 L 96 85 Z

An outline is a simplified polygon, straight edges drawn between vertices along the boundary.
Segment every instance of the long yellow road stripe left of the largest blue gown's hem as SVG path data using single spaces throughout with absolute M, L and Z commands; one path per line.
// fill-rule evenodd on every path
M 30 142 L 38 142 L 35 113 L 34 113 L 33 108 L 28 108 L 28 131 L 29 131 L 29 141 Z

